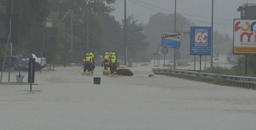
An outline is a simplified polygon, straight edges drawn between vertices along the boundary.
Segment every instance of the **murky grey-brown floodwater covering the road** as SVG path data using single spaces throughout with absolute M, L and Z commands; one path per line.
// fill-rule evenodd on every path
M 29 86 L 0 85 L 3 130 L 254 130 L 256 91 L 155 75 L 133 67 L 133 77 L 76 74 L 79 67 L 36 72 Z M 27 72 L 24 72 L 27 81 Z M 12 81 L 15 75 L 12 72 Z M 101 77 L 94 85 L 93 77 Z M 8 81 L 8 72 L 3 81 Z

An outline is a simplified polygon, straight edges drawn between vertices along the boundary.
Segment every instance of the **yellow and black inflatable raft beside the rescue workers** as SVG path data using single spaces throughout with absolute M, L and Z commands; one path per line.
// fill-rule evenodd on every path
M 103 71 L 103 75 L 109 75 L 110 74 L 110 68 L 105 69 Z M 116 74 L 117 75 L 122 75 L 122 76 L 133 76 L 132 70 L 130 70 L 128 67 L 119 67 L 116 69 Z

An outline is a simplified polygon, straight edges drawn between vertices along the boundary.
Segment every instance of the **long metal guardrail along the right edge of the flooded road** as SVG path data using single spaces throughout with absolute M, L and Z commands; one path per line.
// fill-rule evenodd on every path
M 152 69 L 154 74 L 167 75 L 178 78 L 185 78 L 194 81 L 203 81 L 216 83 L 221 80 L 225 85 L 233 87 L 241 87 L 256 90 L 256 77 L 234 76 L 234 75 L 219 75 L 210 73 L 200 73 L 188 70 L 174 70 L 174 69 Z

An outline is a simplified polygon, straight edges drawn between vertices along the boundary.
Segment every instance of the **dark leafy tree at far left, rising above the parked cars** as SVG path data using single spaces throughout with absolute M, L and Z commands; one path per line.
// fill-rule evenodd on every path
M 13 45 L 14 54 L 19 52 L 40 52 L 41 37 L 38 29 L 43 27 L 50 13 L 48 0 L 14 0 L 14 14 L 17 15 L 18 43 Z M 22 6 L 20 6 L 22 5 Z M 5 2 L 7 13 L 11 13 L 11 0 Z

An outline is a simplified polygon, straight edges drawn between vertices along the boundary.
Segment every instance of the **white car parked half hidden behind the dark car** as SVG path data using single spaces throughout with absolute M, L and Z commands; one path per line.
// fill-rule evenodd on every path
M 26 58 L 35 58 L 36 59 L 35 68 L 40 69 L 41 58 L 40 57 L 38 58 L 35 54 L 33 54 L 33 53 L 22 53 L 22 54 L 17 54 L 15 56 L 18 56 L 18 57 L 24 56 Z M 45 68 L 46 66 L 47 66 L 46 58 L 43 57 L 41 68 Z

